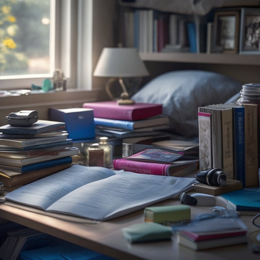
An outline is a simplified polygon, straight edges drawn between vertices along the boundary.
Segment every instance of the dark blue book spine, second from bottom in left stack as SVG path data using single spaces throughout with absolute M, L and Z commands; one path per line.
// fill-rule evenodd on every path
M 46 160 L 43 162 L 22 166 L 21 173 L 36 171 L 36 170 L 45 169 L 45 168 L 53 167 L 55 165 L 61 165 L 66 163 L 72 163 L 71 156 L 63 157 L 55 160 Z

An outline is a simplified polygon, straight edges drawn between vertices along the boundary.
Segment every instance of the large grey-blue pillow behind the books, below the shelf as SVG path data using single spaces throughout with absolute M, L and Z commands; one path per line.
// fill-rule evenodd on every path
M 198 107 L 224 103 L 242 84 L 222 74 L 201 70 L 164 73 L 145 84 L 131 99 L 162 104 L 170 127 L 180 136 L 198 136 Z

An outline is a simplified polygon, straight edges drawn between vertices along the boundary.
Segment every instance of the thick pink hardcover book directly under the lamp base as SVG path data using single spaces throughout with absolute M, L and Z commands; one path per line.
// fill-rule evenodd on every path
M 100 101 L 84 103 L 83 108 L 94 109 L 95 118 L 129 121 L 143 120 L 162 113 L 162 104 L 152 103 L 118 105 L 117 101 Z

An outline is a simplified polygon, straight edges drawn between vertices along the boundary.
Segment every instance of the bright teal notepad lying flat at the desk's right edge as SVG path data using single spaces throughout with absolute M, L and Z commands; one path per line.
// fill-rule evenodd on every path
M 244 188 L 221 194 L 233 210 L 260 210 L 260 189 Z

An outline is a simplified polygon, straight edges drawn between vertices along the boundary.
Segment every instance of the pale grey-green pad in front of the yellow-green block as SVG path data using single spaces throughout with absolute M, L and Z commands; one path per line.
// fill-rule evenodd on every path
M 173 234 L 170 227 L 154 222 L 144 222 L 122 228 L 122 233 L 130 243 L 167 240 Z

